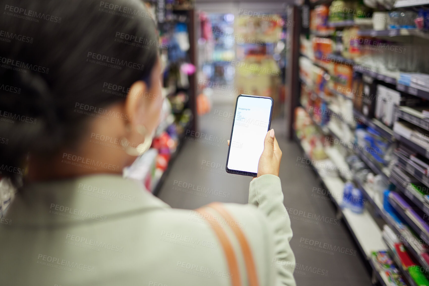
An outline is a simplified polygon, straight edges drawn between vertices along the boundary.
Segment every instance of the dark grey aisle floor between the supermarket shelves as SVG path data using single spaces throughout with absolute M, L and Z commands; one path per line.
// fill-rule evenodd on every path
M 210 114 L 199 117 L 199 131 L 207 134 L 205 138 L 213 135 L 214 140 L 219 141 L 216 143 L 219 144 L 218 146 L 208 145 L 207 143 L 212 141 L 203 138 L 202 142 L 184 140 L 183 148 L 158 195 L 173 208 L 194 209 L 213 201 L 247 203 L 251 177 L 239 175 L 231 177 L 225 172 L 228 151 L 226 140 L 230 137 L 232 125 L 230 121 L 233 117 L 226 117 L 225 121 L 218 120 L 217 117 L 220 111 L 233 113 L 234 104 L 235 102 L 215 104 Z M 327 200 L 326 196 L 317 194 L 317 191 L 313 192 L 314 188 L 321 188 L 314 172 L 296 166 L 297 158 L 302 156 L 299 146 L 285 138 L 281 133 L 284 128 L 278 121 L 273 121 L 272 127 L 275 129 L 276 138 L 283 152 L 279 176 L 284 193 L 284 205 L 316 216 L 335 219 L 335 208 L 332 202 Z M 214 162 L 212 166 L 215 168 L 202 169 L 207 161 Z M 230 198 L 214 195 L 201 197 L 183 193 L 174 189 L 178 184 L 177 181 L 224 191 L 230 193 Z M 320 197 L 312 196 L 314 194 Z M 297 265 L 299 269 L 294 274 L 298 286 L 371 285 L 360 251 L 343 221 L 338 226 L 323 221 L 302 221 L 300 218 L 303 219 L 304 215 L 291 217 L 293 238 L 290 241 L 296 262 L 299 264 Z M 308 245 L 310 240 L 319 241 L 331 250 L 329 253 L 322 253 L 306 249 L 306 246 L 310 247 Z M 308 244 L 305 244 L 305 241 Z M 323 248 L 320 249 L 323 250 Z

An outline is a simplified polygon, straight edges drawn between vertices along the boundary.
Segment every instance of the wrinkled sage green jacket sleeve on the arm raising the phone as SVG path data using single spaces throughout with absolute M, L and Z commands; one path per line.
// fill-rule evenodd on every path
M 292 238 L 290 219 L 283 205 L 283 192 L 280 178 L 275 175 L 262 175 L 250 182 L 249 204 L 257 206 L 268 218 L 269 229 L 274 242 L 273 257 L 270 258 L 271 273 L 275 277 L 272 285 L 296 286 L 293 278 L 295 256 L 290 248 Z

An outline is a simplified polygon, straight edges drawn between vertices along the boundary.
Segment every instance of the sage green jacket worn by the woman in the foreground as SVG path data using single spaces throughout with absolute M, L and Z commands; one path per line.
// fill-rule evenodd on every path
M 230 225 L 251 246 L 260 286 L 295 286 L 290 219 L 280 179 L 250 183 L 249 204 L 224 204 L 236 220 L 219 220 L 248 285 Z M 230 224 L 230 225 L 228 225 Z M 0 223 L 2 286 L 231 285 L 224 250 L 196 211 L 173 209 L 141 184 L 91 175 L 30 184 Z

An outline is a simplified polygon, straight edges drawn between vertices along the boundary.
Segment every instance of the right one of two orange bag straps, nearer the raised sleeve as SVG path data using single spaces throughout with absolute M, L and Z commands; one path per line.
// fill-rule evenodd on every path
M 224 206 L 221 203 L 218 202 L 214 202 L 208 205 L 209 207 L 215 209 L 216 211 L 218 211 L 219 214 L 221 214 L 224 218 L 226 218 L 227 220 L 229 220 L 230 222 L 236 222 L 236 220 L 234 220 L 234 218 L 231 216 L 231 214 L 224 208 Z M 231 229 L 233 230 L 234 234 L 236 235 L 241 249 L 242 249 L 242 253 L 245 259 L 245 265 L 246 265 L 246 271 L 247 271 L 247 277 L 248 277 L 248 281 L 249 281 L 249 285 L 250 286 L 258 286 L 258 277 L 257 277 L 257 272 L 256 272 L 256 267 L 255 267 L 255 263 L 254 263 L 254 259 L 253 259 L 253 255 L 252 255 L 252 250 L 250 248 L 250 245 L 247 241 L 247 238 L 244 234 L 244 232 L 242 231 L 242 229 L 240 229 L 237 226 L 233 226 L 229 223 Z

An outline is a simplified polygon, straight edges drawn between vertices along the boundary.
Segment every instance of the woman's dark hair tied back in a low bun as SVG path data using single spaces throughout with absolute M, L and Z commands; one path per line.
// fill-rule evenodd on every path
M 14 0 L 3 4 L 1 177 L 21 176 L 29 152 L 49 156 L 63 146 L 73 147 L 91 118 L 75 112 L 77 103 L 103 108 L 125 100 L 124 95 L 106 93 L 106 83 L 128 88 L 150 77 L 157 60 L 151 15 L 139 0 L 106 3 Z M 118 35 L 136 36 L 146 44 L 126 44 Z

